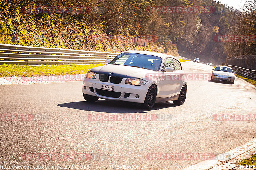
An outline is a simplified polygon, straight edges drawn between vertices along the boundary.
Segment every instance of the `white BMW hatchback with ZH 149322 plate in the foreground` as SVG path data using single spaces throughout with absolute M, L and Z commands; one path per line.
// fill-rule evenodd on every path
M 185 102 L 185 73 L 180 61 L 171 55 L 125 51 L 106 63 L 86 73 L 82 88 L 85 100 L 122 100 L 142 103 L 146 109 L 158 102 Z

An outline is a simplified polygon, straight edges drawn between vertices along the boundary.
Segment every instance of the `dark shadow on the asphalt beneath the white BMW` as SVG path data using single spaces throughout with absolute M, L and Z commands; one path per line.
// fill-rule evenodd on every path
M 140 106 L 139 103 L 134 104 L 130 102 L 111 100 L 98 100 L 95 103 L 91 103 L 88 101 L 77 101 L 70 103 L 61 103 L 58 104 L 58 106 L 105 113 L 148 113 L 148 110 L 142 109 L 142 106 Z M 156 103 L 151 110 L 158 110 L 175 106 L 178 105 L 174 105 L 172 102 Z

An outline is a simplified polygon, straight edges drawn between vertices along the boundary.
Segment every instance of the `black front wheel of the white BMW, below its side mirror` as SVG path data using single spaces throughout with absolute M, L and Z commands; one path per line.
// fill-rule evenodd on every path
M 143 103 L 145 109 L 152 109 L 156 102 L 156 86 L 151 85 L 148 89 L 148 92 Z

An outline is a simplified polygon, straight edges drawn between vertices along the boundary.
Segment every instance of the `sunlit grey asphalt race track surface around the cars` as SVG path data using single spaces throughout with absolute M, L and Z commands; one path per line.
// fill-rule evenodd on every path
M 211 73 L 211 66 L 183 62 L 187 73 Z M 203 160 L 147 160 L 148 153 L 224 153 L 256 137 L 255 121 L 216 121 L 214 114 L 256 113 L 256 90 L 235 84 L 188 81 L 182 106 L 156 104 L 152 110 L 126 102 L 86 102 L 82 81 L 1 85 L 1 114 L 46 114 L 47 120 L 1 121 L 1 165 L 142 165 L 145 169 L 182 169 Z M 89 121 L 95 113 L 171 114 L 170 121 Z M 91 153 L 91 160 L 23 160 L 28 153 Z M 144 165 L 144 166 L 143 166 Z M 75 169 L 73 167 L 73 169 Z M 123 168 L 124 169 L 124 168 Z M 135 168 L 132 168 L 135 169 Z

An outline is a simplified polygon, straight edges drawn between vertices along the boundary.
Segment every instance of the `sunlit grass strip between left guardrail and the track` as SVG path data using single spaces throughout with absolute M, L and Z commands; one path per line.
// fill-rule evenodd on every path
M 2 64 L 0 65 L 0 77 L 85 74 L 91 68 L 101 65 L 104 64 L 37 66 Z

